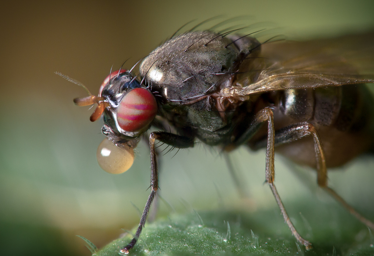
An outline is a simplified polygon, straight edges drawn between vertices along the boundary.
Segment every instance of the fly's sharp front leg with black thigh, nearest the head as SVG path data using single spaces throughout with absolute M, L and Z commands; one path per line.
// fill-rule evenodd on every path
M 179 149 L 184 149 L 184 148 L 194 146 L 193 138 L 188 138 L 188 137 L 180 136 L 177 134 L 172 134 L 169 132 L 151 132 L 149 136 L 149 147 L 150 147 L 150 152 L 151 152 L 151 193 L 148 197 L 147 203 L 145 203 L 145 207 L 140 218 L 139 226 L 137 228 L 137 231 L 135 232 L 135 237 L 132 238 L 132 240 L 130 241 L 128 245 L 120 249 L 119 251 L 120 253 L 128 254 L 129 250 L 132 247 L 134 247 L 135 243 L 137 242 L 140 236 L 140 233 L 144 227 L 145 220 L 147 219 L 149 208 L 152 204 L 154 197 L 156 196 L 156 191 L 159 187 L 156 150 L 154 149 L 155 140 L 159 140 L 163 143 L 169 144 Z

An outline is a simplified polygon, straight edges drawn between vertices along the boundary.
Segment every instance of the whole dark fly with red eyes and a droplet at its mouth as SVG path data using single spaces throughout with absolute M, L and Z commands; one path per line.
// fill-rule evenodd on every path
M 151 192 L 135 237 L 120 253 L 134 247 L 156 196 L 156 140 L 177 149 L 193 147 L 197 139 L 223 152 L 266 148 L 266 183 L 306 249 L 311 243 L 294 228 L 275 187 L 275 150 L 315 168 L 318 185 L 374 230 L 327 184 L 328 167 L 374 150 L 374 100 L 365 86 L 374 82 L 374 34 L 270 41 L 228 32 L 174 35 L 142 59 L 141 82 L 134 67 L 120 69 L 104 80 L 98 96 L 74 100 L 97 104 L 91 121 L 104 116 L 107 138 L 97 159 L 105 171 L 129 169 L 141 135 L 152 125 L 162 130 L 149 135 Z

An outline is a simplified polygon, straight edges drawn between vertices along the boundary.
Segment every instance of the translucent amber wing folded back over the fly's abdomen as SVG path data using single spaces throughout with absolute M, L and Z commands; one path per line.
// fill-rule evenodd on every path
M 245 60 L 222 96 L 374 82 L 374 32 L 306 42 L 273 42 Z

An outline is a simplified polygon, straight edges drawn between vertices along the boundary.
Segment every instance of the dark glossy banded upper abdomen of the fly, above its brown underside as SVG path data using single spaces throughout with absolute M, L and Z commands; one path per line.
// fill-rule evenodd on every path
M 373 103 L 363 84 L 285 90 L 279 104 L 283 116 L 278 118 L 288 123 L 310 122 L 322 130 L 373 132 Z

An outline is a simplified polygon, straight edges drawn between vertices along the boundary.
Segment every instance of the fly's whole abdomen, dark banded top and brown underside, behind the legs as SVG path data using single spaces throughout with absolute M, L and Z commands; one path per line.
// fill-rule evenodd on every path
M 278 105 L 281 111 L 275 107 L 275 127 L 313 124 L 321 138 L 327 166 L 340 166 L 373 147 L 373 103 L 363 84 L 286 90 Z M 278 152 L 295 162 L 316 166 L 311 137 L 280 145 Z

